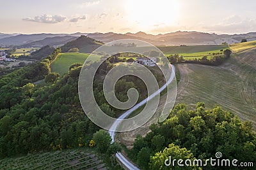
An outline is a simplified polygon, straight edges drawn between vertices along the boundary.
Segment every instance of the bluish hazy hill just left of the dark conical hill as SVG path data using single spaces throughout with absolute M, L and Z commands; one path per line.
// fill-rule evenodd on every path
M 65 43 L 68 43 L 69 41 L 72 41 L 76 39 L 76 36 L 54 36 L 45 38 L 38 41 L 33 41 L 32 43 L 27 43 L 25 45 L 22 45 L 22 47 L 42 47 L 45 45 L 49 46 L 60 46 L 65 45 Z

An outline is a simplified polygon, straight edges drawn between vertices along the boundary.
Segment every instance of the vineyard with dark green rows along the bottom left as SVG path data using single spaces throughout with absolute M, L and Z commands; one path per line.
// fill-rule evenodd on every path
M 0 169 L 106 169 L 92 151 L 65 150 L 0 160 Z

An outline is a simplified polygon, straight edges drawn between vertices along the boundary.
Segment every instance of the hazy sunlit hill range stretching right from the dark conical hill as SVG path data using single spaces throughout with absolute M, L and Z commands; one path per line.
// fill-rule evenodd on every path
M 116 34 L 114 32 L 108 33 L 99 33 L 96 32 L 94 34 L 88 34 L 87 36 L 91 38 L 95 38 L 104 43 L 108 43 L 110 41 L 115 41 L 117 39 L 141 39 L 143 41 L 147 41 L 148 43 L 152 43 L 153 45 L 158 46 L 170 46 L 170 45 L 221 45 L 221 43 L 227 42 L 231 43 L 239 43 L 241 39 L 248 39 L 248 41 L 252 41 L 256 39 L 256 32 L 250 32 L 247 34 L 210 34 L 206 32 L 196 32 L 196 31 L 177 31 L 170 32 L 166 34 L 147 34 L 145 32 L 137 32 L 131 33 L 127 32 L 126 34 Z

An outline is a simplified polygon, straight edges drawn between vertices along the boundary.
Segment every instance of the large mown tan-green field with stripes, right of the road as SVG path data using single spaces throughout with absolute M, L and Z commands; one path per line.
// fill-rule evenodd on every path
M 222 66 L 179 64 L 180 83 L 177 103 L 191 107 L 204 101 L 211 108 L 218 104 L 225 110 L 250 120 L 256 127 L 256 50 L 232 55 Z

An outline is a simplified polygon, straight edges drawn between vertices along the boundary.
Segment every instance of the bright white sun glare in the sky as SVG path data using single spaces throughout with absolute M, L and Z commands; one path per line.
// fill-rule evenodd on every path
M 127 0 L 125 8 L 129 20 L 143 27 L 172 25 L 179 16 L 177 0 Z

